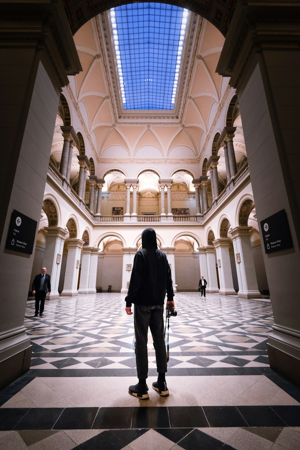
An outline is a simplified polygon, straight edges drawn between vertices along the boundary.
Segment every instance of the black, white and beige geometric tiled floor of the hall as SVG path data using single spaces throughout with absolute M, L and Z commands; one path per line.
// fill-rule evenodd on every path
M 128 395 L 136 383 L 132 316 L 124 295 L 101 293 L 26 308 L 31 370 L 0 392 L 9 449 L 297 449 L 300 389 L 275 374 L 268 301 L 177 293 L 170 319 L 170 395 Z M 148 339 L 148 386 L 156 380 Z

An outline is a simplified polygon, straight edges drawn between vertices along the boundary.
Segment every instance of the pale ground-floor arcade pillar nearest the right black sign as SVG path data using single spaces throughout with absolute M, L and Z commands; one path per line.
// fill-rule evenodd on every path
M 240 298 L 261 298 L 251 248 L 249 234 L 251 229 L 252 227 L 248 226 L 238 226 L 229 231 L 234 244 L 235 265 L 238 275 L 238 297 Z

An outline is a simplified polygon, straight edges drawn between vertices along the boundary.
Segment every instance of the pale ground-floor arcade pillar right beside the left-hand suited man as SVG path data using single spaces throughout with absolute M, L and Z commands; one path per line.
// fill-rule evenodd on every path
M 43 266 L 47 268 L 47 273 L 51 276 L 49 300 L 52 300 L 59 298 L 58 283 L 62 267 L 62 252 L 68 232 L 60 227 L 46 227 L 44 229 L 47 231 L 47 238 Z M 60 255 L 60 257 L 57 257 L 57 255 Z

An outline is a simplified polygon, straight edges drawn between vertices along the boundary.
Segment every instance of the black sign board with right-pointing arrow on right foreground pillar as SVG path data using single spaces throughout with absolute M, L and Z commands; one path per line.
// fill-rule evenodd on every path
M 260 227 L 266 253 L 278 252 L 293 246 L 284 209 L 261 220 Z

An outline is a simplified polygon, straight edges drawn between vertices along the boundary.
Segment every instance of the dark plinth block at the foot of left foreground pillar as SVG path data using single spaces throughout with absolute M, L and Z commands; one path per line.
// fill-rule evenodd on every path
M 30 369 L 32 345 L 0 362 L 0 390 L 16 381 Z

